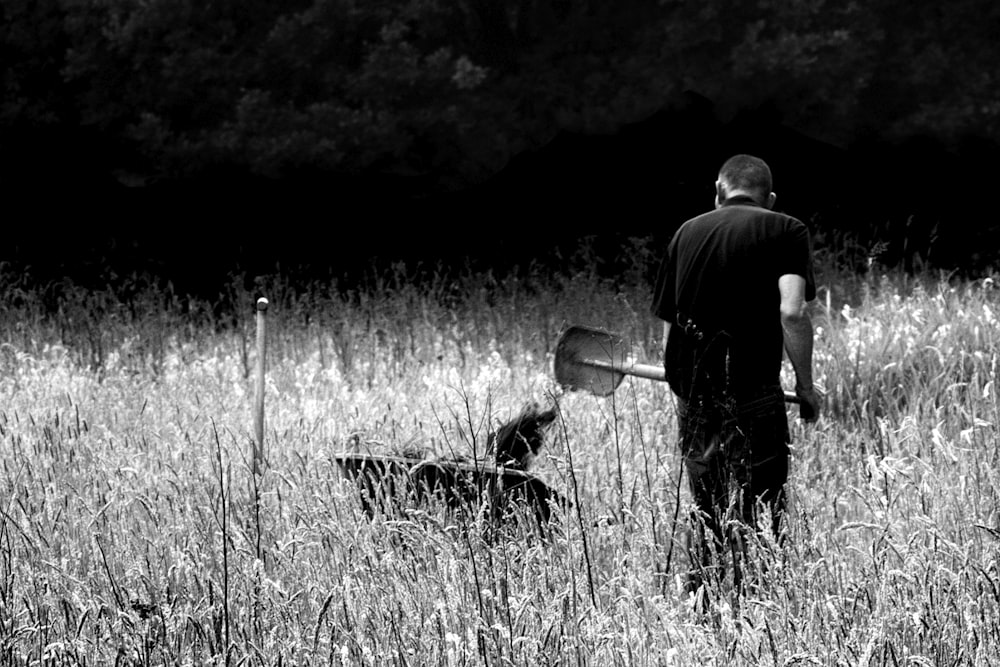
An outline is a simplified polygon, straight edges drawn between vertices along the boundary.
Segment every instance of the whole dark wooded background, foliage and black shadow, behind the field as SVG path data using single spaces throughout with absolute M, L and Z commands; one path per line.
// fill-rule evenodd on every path
M 737 152 L 845 266 L 997 261 L 994 3 L 9 0 L 0 21 L 2 259 L 39 281 L 555 267 L 584 237 L 613 271 L 710 207 Z

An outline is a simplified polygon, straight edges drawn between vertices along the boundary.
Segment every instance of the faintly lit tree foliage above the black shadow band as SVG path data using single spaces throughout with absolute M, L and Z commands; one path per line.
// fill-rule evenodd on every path
M 684 91 L 841 142 L 996 139 L 998 21 L 981 0 L 8 0 L 4 173 L 97 160 L 128 183 L 374 172 L 453 188 Z

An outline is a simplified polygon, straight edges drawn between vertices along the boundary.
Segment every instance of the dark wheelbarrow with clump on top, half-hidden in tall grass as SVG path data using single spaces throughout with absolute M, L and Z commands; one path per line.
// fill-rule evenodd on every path
M 515 520 L 529 510 L 538 525 L 552 519 L 552 504 L 566 499 L 528 472 L 545 443 L 556 409 L 527 406 L 517 417 L 490 433 L 492 461 L 425 459 L 416 453 L 384 456 L 363 452 L 334 456 L 341 471 L 355 480 L 366 513 L 399 511 L 406 506 L 441 502 L 474 516 L 485 508 L 497 522 Z

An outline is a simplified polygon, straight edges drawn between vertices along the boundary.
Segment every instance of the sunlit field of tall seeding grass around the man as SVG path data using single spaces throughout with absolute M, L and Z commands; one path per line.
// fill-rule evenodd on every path
M 1000 286 L 821 272 L 827 410 L 813 426 L 789 410 L 787 545 L 754 595 L 713 591 L 706 616 L 677 576 L 667 387 L 596 398 L 551 374 L 571 323 L 655 361 L 645 268 L 237 278 L 212 300 L 2 274 L 0 662 L 1000 664 Z M 434 507 L 368 521 L 332 459 L 481 454 L 530 400 L 559 403 L 537 471 L 577 501 L 548 543 Z

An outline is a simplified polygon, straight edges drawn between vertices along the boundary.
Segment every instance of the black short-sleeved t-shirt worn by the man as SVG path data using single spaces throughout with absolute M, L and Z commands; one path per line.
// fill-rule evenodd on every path
M 749 197 L 733 197 L 674 234 L 651 310 L 673 324 L 682 313 L 706 333 L 728 333 L 729 376 L 738 387 L 775 385 L 782 356 L 778 278 L 785 274 L 805 278 L 806 300 L 815 298 L 806 226 Z

